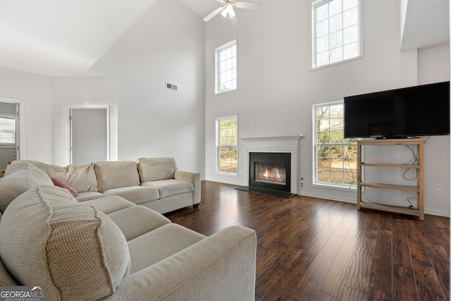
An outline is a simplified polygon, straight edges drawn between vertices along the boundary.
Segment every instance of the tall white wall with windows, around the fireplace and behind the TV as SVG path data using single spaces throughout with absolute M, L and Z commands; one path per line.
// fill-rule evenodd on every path
M 264 1 L 259 11 L 237 10 L 240 26 L 236 28 L 221 16 L 206 24 L 207 180 L 234 185 L 242 185 L 245 181 L 242 176 L 232 178 L 215 174 L 215 118 L 238 114 L 240 137 L 305 135 L 299 142 L 299 178 L 304 178 L 299 194 L 355 202 L 355 192 L 311 185 L 312 106 L 352 94 L 412 86 L 438 78 L 449 80 L 449 69 L 433 78 L 433 69 L 429 68 L 443 59 L 449 60 L 446 50 L 400 52 L 398 1 L 364 0 L 363 6 L 364 58 L 319 70 L 309 69 L 311 1 L 286 0 L 283 5 L 277 1 Z M 214 49 L 235 37 L 239 90 L 215 96 Z M 446 68 L 449 64 L 443 63 L 443 66 Z M 435 148 L 433 145 L 438 144 L 446 151 L 447 141 L 448 137 L 434 137 L 430 145 Z M 438 159 L 436 153 L 428 154 L 429 148 L 426 148 L 426 164 L 449 166 L 449 156 Z M 242 166 L 242 158 L 239 162 L 240 169 L 246 168 Z M 433 180 L 431 174 L 429 168 L 426 171 L 426 177 L 430 177 L 426 178 L 426 212 L 447 215 L 449 204 L 442 206 L 442 202 L 436 204 L 428 199 L 432 190 L 435 197 L 435 189 L 431 188 L 433 181 L 441 177 L 449 182 L 449 169 L 439 171 Z M 449 195 L 449 188 L 443 188 Z

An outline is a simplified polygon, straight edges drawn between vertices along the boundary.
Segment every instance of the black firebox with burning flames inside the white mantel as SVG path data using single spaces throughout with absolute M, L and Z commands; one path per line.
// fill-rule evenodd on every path
M 249 152 L 249 186 L 290 192 L 291 154 Z

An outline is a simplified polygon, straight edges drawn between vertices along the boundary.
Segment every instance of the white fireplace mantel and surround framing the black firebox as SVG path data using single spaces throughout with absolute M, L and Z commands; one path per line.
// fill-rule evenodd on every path
M 290 192 L 297 194 L 299 139 L 304 135 L 278 137 L 240 138 L 242 143 L 245 168 L 245 186 L 249 186 L 249 153 L 251 152 L 285 152 L 291 154 L 291 183 Z

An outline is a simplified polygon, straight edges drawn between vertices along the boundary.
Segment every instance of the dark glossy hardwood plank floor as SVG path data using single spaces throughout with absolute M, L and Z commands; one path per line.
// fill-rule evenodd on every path
M 257 300 L 450 300 L 449 218 L 419 221 L 209 181 L 198 208 L 166 216 L 204 235 L 254 229 Z

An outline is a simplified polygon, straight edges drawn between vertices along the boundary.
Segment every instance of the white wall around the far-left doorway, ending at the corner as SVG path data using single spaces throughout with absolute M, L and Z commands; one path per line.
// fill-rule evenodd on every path
M 25 151 L 20 159 L 54 159 L 53 80 L 45 76 L 0 68 L 0 97 L 19 99 L 25 106 Z

